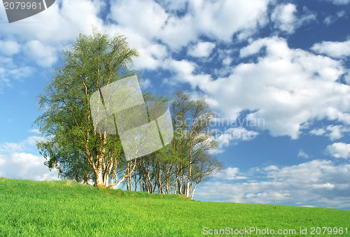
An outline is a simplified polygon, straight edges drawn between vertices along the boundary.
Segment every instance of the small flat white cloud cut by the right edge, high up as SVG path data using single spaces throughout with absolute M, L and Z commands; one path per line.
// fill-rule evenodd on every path
M 350 56 L 350 40 L 344 42 L 323 41 L 316 43 L 311 50 L 319 54 L 328 55 L 330 57 L 342 58 Z

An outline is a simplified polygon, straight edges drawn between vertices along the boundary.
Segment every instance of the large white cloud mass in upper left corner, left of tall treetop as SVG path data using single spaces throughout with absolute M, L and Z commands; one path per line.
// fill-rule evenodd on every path
M 1 24 L 0 93 L 13 85 L 13 79 L 31 75 L 34 70 L 26 66 L 29 62 L 52 66 L 60 51 L 80 32 L 90 33 L 92 24 L 101 29 L 102 20 L 97 15 L 102 6 L 104 3 L 97 0 L 59 0 L 47 10 L 21 22 Z M 4 10 L 0 11 L 0 20 L 7 21 Z M 12 57 L 21 52 L 23 54 L 14 61 Z

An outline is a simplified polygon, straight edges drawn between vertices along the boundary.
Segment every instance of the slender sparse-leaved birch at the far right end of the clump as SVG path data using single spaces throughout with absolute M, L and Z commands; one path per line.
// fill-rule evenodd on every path
M 177 190 L 193 198 L 195 188 L 205 179 L 223 169 L 211 155 L 217 148 L 210 131 L 213 113 L 205 99 L 190 100 L 188 94 L 176 92 L 172 103 L 175 139 L 172 152 L 180 157 L 176 164 Z

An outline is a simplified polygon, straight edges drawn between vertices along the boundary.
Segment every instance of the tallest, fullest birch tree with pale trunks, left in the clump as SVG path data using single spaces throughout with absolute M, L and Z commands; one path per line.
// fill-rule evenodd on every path
M 137 74 L 132 59 L 139 52 L 130 48 L 125 36 L 79 34 L 62 52 L 63 66 L 56 67 L 52 80 L 38 96 L 42 115 L 35 124 L 45 137 L 37 144 L 50 168 L 62 177 L 87 180 L 99 187 L 118 187 L 130 177 L 137 159 L 125 161 L 118 134 L 99 134 L 92 124 L 90 96 L 106 85 Z M 123 168 L 123 171 L 120 171 Z M 118 173 L 122 178 L 118 180 Z

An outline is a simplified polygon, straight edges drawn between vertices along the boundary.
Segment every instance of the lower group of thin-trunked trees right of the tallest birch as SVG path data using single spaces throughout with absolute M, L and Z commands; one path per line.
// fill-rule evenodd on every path
M 138 162 L 127 178 L 127 189 L 193 198 L 197 185 L 221 171 L 223 164 L 210 151 L 217 146 L 209 131 L 212 113 L 204 99 L 190 100 L 176 92 L 172 99 L 174 139 Z

